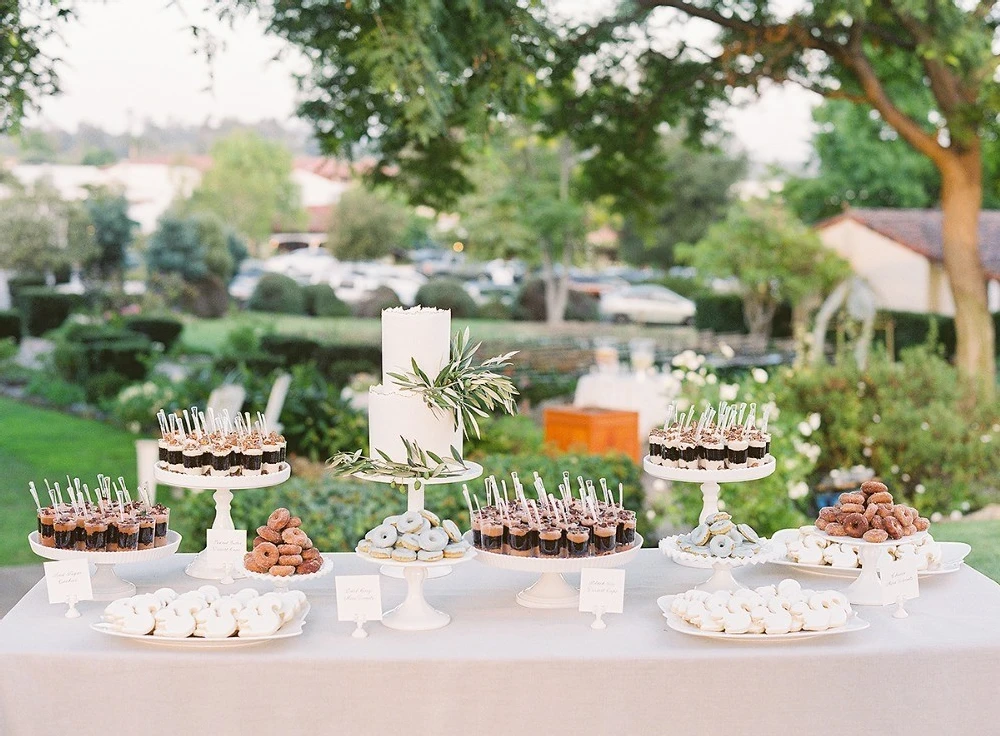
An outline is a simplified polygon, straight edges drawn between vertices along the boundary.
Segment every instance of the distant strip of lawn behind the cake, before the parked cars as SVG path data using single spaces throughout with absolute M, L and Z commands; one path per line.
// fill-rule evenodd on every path
M 220 319 L 190 319 L 181 339 L 194 350 L 214 352 L 225 341 L 231 330 L 253 326 L 288 335 L 302 335 L 324 342 L 348 342 L 378 345 L 381 341 L 381 323 L 377 319 L 354 317 L 299 317 L 287 314 L 238 312 Z M 633 337 L 660 337 L 685 327 L 642 327 L 639 325 L 595 324 L 593 322 L 567 322 L 552 328 L 544 322 L 512 322 L 504 320 L 454 320 L 458 329 L 470 327 L 472 336 L 484 342 L 520 341 L 536 342 L 553 338 L 592 338 L 595 334 L 627 341 Z

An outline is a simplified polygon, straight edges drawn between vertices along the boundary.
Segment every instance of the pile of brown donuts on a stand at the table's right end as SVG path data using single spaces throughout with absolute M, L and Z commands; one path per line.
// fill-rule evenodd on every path
M 931 522 L 912 506 L 893 503 L 889 488 L 877 480 L 841 493 L 835 506 L 819 510 L 816 528 L 831 537 L 853 537 L 876 544 L 925 532 Z

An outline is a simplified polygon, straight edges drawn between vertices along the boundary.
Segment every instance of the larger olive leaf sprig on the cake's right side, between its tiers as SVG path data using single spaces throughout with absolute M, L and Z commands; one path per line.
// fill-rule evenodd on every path
M 455 333 L 451 343 L 451 360 L 432 381 L 416 360 L 411 360 L 411 373 L 390 373 L 393 383 L 402 389 L 423 395 L 431 409 L 454 412 L 455 426 L 465 437 L 479 436 L 477 417 L 487 417 L 501 408 L 507 414 L 517 411 L 517 389 L 513 381 L 498 371 L 510 365 L 517 351 L 473 363 L 482 343 L 469 345 L 469 329 Z

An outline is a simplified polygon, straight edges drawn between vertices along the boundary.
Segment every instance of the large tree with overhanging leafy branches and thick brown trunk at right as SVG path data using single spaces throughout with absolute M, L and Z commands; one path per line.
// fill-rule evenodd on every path
M 733 87 L 792 81 L 871 108 L 941 175 L 945 269 L 956 304 L 957 361 L 995 391 L 994 333 L 978 248 L 983 139 L 995 132 L 1000 85 L 996 0 L 629 0 L 567 27 L 541 2 L 398 0 L 261 4 L 265 22 L 313 60 L 302 113 L 325 150 L 374 151 L 374 178 L 395 176 L 426 201 L 467 192 L 462 173 L 491 125 L 520 115 L 586 151 L 588 177 L 623 208 L 655 200 L 664 122 L 711 126 Z M 691 44 L 689 18 L 714 24 Z M 900 95 L 922 90 L 933 116 Z M 544 104 L 544 103 L 549 104 Z M 617 186 L 612 185 L 617 181 Z

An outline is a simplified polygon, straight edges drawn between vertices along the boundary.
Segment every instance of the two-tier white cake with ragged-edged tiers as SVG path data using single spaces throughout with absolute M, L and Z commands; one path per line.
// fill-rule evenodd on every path
M 371 456 L 381 450 L 394 462 L 406 462 L 401 438 L 421 449 L 451 458 L 451 448 L 462 454 L 462 430 L 455 414 L 431 409 L 423 396 L 397 386 L 390 373 L 412 373 L 413 361 L 432 381 L 448 363 L 451 350 L 451 311 L 413 307 L 382 312 L 382 383 L 373 386 L 368 401 L 368 441 Z

